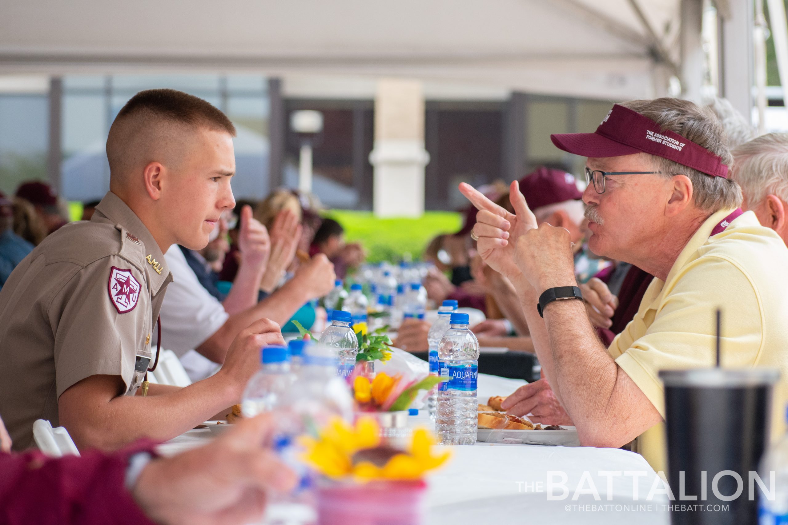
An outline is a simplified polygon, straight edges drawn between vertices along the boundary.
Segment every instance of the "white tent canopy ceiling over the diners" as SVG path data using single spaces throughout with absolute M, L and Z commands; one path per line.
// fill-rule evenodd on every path
M 0 73 L 313 72 L 655 94 L 679 0 L 28 0 L 0 5 Z M 662 53 L 660 54 L 660 48 Z M 662 80 L 660 80 L 662 79 Z

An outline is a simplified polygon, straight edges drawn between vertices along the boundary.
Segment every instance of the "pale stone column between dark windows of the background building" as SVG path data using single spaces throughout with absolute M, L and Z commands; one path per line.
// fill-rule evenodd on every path
M 375 216 L 422 216 L 428 162 L 422 83 L 381 79 L 375 94 L 375 142 L 370 153 Z

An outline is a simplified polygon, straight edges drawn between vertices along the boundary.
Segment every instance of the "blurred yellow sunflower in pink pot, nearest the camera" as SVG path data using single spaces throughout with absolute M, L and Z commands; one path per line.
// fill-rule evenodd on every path
M 433 453 L 435 441 L 423 428 L 405 449 L 385 445 L 379 435 L 374 420 L 361 418 L 354 427 L 333 420 L 318 438 L 301 438 L 303 460 L 321 475 L 318 523 L 423 523 L 424 478 L 450 453 Z

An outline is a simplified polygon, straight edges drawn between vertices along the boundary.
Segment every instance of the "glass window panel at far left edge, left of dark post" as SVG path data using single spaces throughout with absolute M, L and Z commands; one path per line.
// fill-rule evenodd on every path
M 46 179 L 48 112 L 46 95 L 0 95 L 0 190 L 6 194 L 24 180 Z

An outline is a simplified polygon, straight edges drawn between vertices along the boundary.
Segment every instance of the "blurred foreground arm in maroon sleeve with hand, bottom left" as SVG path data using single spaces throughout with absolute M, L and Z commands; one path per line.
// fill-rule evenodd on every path
M 0 419 L 0 523 L 251 523 L 263 515 L 269 491 L 296 482 L 266 445 L 275 430 L 262 415 L 173 457 L 139 442 L 117 453 L 46 458 L 10 454 Z

